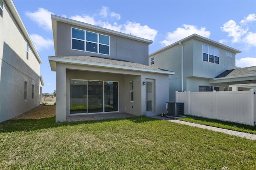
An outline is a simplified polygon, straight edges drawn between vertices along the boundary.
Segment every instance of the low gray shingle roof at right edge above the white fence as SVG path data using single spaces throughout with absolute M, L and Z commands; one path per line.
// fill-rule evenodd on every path
M 253 74 L 256 74 L 256 66 L 244 67 L 244 68 L 237 67 L 236 69 L 226 70 L 215 78 L 234 77 L 234 76 L 253 75 Z

